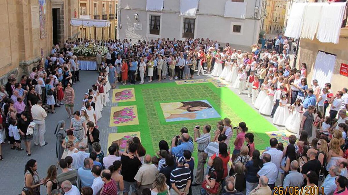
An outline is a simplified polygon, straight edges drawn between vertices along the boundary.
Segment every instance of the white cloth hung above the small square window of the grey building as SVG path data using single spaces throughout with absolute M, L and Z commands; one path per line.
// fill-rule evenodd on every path
M 224 17 L 245 19 L 246 2 L 226 1 Z

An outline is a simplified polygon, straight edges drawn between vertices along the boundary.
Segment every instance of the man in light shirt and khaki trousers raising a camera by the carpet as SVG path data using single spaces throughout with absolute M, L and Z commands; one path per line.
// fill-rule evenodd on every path
M 197 150 L 198 150 L 198 164 L 197 164 L 197 172 L 196 172 L 196 181 L 192 184 L 192 186 L 198 186 L 203 182 L 204 179 L 204 164 L 207 162 L 208 154 L 204 152 L 210 143 L 210 125 L 205 125 L 203 127 L 203 134 L 200 134 L 200 127 L 196 126 L 193 131 L 194 140 L 197 142 Z

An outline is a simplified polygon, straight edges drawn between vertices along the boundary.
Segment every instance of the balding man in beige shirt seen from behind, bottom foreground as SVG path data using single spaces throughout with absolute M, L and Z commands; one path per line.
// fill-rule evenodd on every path
M 155 164 L 151 164 L 151 156 L 149 154 L 144 157 L 144 164 L 140 167 L 136 173 L 134 179 L 138 188 L 138 194 L 141 194 L 143 189 L 152 188 L 152 184 L 156 179 L 158 173 Z

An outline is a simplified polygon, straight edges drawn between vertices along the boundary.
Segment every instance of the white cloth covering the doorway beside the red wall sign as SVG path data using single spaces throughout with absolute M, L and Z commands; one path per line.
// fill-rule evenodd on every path
M 320 87 L 324 87 L 325 83 L 330 83 L 335 62 L 335 55 L 319 51 L 314 64 L 312 80 L 317 79 Z

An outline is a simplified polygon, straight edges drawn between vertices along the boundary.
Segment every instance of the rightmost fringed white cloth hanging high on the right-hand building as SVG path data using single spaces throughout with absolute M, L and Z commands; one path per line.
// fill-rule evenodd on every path
M 338 43 L 345 10 L 346 2 L 326 3 L 323 6 L 317 32 L 317 39 L 320 42 Z

